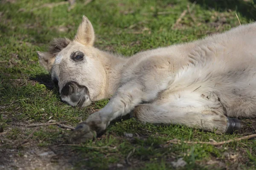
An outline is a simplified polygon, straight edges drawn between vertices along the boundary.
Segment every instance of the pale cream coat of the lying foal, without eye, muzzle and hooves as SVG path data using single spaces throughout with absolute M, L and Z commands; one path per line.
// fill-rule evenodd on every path
M 85 28 L 93 30 L 87 19 L 79 26 L 76 39 L 60 52 L 63 58 L 55 59 L 60 68 L 54 70 L 60 89 L 73 80 L 88 87 L 92 101 L 112 96 L 84 123 L 97 121 L 104 130 L 117 116 L 133 111 L 143 122 L 224 133 L 227 116 L 256 117 L 256 23 L 129 58 L 99 51 L 91 41 L 86 45 L 85 40 L 94 40 L 94 33 L 89 29 L 82 34 Z M 86 54 L 83 65 L 69 62 L 75 49 Z

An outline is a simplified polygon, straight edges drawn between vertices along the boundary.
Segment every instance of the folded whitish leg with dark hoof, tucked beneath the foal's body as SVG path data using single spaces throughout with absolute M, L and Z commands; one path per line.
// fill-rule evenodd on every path
M 169 103 L 161 99 L 138 105 L 133 114 L 142 122 L 186 125 L 215 133 L 233 133 L 241 129 L 240 121 L 225 116 L 217 101 L 182 98 L 180 94 Z

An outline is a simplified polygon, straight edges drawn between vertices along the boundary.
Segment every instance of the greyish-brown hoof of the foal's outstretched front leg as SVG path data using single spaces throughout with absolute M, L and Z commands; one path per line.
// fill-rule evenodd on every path
M 96 131 L 91 130 L 90 126 L 82 122 L 76 126 L 75 130 L 71 132 L 69 137 L 69 143 L 85 143 L 89 139 L 95 138 L 96 135 Z

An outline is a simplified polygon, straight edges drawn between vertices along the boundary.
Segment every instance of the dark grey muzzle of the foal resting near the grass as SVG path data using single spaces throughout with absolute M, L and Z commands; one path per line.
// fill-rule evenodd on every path
M 61 101 L 71 106 L 82 107 L 84 102 L 90 102 L 88 88 L 77 82 L 67 82 L 61 89 Z

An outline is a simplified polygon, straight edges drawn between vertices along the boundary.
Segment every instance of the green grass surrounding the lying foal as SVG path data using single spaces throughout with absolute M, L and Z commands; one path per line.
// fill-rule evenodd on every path
M 0 166 L 29 169 L 33 164 L 43 169 L 48 164 L 53 169 L 166 170 L 174 169 L 172 161 L 183 158 L 186 165 L 178 169 L 256 169 L 255 140 L 218 147 L 163 147 L 170 139 L 223 141 L 243 134 L 216 135 L 180 125 L 155 126 L 127 118 L 112 122 L 100 138 L 83 147 L 58 146 L 67 142 L 70 131 L 52 125 L 39 127 L 29 142 L 16 148 L 15 143 L 25 140 L 34 129 L 22 124 L 67 121 L 67 125 L 76 126 L 108 102 L 95 102 L 87 108 L 65 105 L 60 102 L 49 74 L 38 64 L 36 51 L 46 51 L 54 37 L 73 38 L 83 15 L 94 26 L 96 47 L 125 56 L 228 30 L 239 25 L 236 13 L 242 24 L 256 19 L 256 5 L 250 0 L 197 0 L 194 8 L 193 0 L 93 0 L 86 6 L 83 0 L 77 0 L 69 12 L 68 4 L 43 7 L 58 2 L 61 0 L 0 2 L 0 126 L 4 128 L 4 133 L 0 133 Z M 192 11 L 176 23 L 188 5 Z M 255 133 L 255 122 L 244 120 L 244 124 L 245 132 Z M 124 133 L 132 133 L 133 137 Z M 46 151 L 54 155 L 35 157 L 31 150 L 37 155 Z M 40 164 L 35 163 L 38 160 Z

